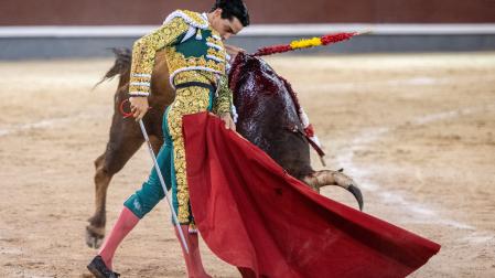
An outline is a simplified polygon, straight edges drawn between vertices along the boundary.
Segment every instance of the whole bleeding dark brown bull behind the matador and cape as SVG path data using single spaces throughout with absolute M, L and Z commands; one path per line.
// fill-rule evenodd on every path
M 120 79 L 115 94 L 110 138 L 105 152 L 95 160 L 96 211 L 86 227 L 86 243 L 94 248 L 99 247 L 105 236 L 106 195 L 110 180 L 143 143 L 139 126 L 132 119 L 125 119 L 120 111 L 121 104 L 129 97 L 131 55 L 129 50 L 114 51 L 117 56 L 115 65 L 103 81 L 116 75 L 120 75 Z M 165 61 L 158 53 L 149 98 L 152 109 L 143 119 L 155 152 L 163 143 L 162 111 L 174 97 L 168 75 Z M 299 104 L 286 79 L 265 61 L 239 54 L 233 63 L 229 83 L 238 114 L 236 127 L 243 137 L 312 189 L 319 191 L 324 185 L 342 186 L 353 193 L 359 209 L 363 207 L 361 191 L 351 178 L 340 171 L 314 171 L 311 168 L 310 145 L 298 115 Z

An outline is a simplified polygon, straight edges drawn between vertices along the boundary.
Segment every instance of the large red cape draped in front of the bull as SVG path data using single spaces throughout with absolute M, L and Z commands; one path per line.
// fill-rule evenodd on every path
M 316 194 L 215 116 L 183 132 L 197 228 L 243 277 L 405 277 L 440 249 Z

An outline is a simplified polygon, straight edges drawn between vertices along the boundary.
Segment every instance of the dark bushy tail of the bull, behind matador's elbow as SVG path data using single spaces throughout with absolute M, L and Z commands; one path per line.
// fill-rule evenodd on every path
M 114 66 L 110 67 L 110 70 L 108 70 L 108 72 L 105 74 L 101 81 L 99 81 L 94 88 L 96 88 L 99 84 L 104 83 L 105 81 L 114 78 L 116 75 L 120 75 L 119 88 L 129 83 L 129 74 L 132 58 L 131 51 L 126 47 L 122 49 L 114 47 L 111 49 L 111 51 L 115 54 Z

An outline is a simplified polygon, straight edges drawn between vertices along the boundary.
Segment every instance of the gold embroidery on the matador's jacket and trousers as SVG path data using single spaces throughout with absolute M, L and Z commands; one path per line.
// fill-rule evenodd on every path
M 206 55 L 212 55 L 225 61 L 226 52 L 219 38 L 219 33 L 213 30 L 208 25 L 207 20 L 200 13 L 192 11 L 176 11 L 169 15 L 165 22 L 166 23 L 160 29 L 139 39 L 134 43 L 132 49 L 130 78 L 130 82 L 134 83 L 134 85 L 130 86 L 130 92 L 149 93 L 149 87 L 146 83 L 151 82 L 155 53 L 158 50 L 165 47 L 169 72 L 171 73 L 171 79 L 174 78 L 175 84 L 182 84 L 184 82 L 212 84 L 216 82 L 216 74 L 219 74 L 222 79 L 218 83 L 219 94 L 217 101 L 215 101 L 216 110 L 218 113 L 229 111 L 232 105 L 232 92 L 228 89 L 227 78 L 225 76 L 226 64 L 225 62 L 206 58 Z M 174 45 L 179 43 L 177 39 L 187 32 L 191 26 L 209 29 L 212 31 L 212 36 L 206 38 L 206 41 L 219 45 L 223 49 L 218 51 L 208 46 L 207 52 L 197 57 L 185 57 L 182 53 L 179 53 Z M 205 32 L 201 33 L 203 35 Z M 194 39 L 195 38 L 192 38 L 191 40 Z M 207 110 L 211 105 L 209 101 L 209 90 L 206 88 L 181 88 L 176 90 L 175 100 L 169 109 L 166 125 L 174 147 L 173 156 L 177 186 L 176 199 L 179 201 L 177 217 L 180 223 L 189 223 L 191 218 L 185 149 L 182 137 L 182 116 Z

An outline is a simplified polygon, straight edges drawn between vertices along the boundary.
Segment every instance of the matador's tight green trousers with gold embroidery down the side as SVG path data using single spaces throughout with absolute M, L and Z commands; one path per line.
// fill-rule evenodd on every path
M 208 88 L 191 86 L 177 89 L 175 100 L 163 115 L 164 145 L 157 160 L 165 180 L 166 190 L 171 190 L 172 203 L 180 224 L 192 224 L 189 186 L 186 179 L 185 148 L 182 135 L 182 117 L 189 114 L 211 111 L 214 92 Z M 153 168 L 142 188 L 132 194 L 123 205 L 136 216 L 142 218 L 164 197 L 157 170 Z

